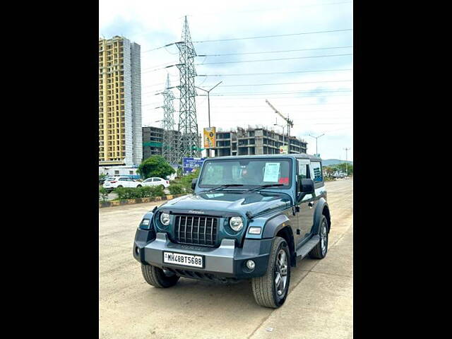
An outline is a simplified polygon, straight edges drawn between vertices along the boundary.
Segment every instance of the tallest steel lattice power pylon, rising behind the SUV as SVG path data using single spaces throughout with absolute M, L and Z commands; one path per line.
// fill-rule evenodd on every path
M 191 42 L 189 23 L 184 20 L 182 29 L 182 41 L 177 42 L 179 48 L 179 69 L 180 102 L 179 102 L 179 157 L 178 162 L 182 163 L 182 157 L 200 157 L 198 121 L 196 119 L 196 89 L 194 58 L 196 52 Z

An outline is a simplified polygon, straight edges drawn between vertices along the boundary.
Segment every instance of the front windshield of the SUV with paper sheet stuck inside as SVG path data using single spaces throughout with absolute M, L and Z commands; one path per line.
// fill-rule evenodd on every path
M 211 188 L 227 184 L 242 184 L 248 188 L 267 184 L 283 184 L 271 189 L 290 186 L 290 159 L 240 159 L 208 161 L 199 178 L 199 186 Z

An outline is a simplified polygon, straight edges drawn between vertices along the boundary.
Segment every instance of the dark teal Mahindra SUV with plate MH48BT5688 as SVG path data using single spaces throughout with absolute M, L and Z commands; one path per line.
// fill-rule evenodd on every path
M 136 230 L 133 257 L 150 285 L 251 279 L 256 302 L 277 308 L 297 259 L 326 256 L 331 214 L 319 157 L 208 158 L 191 186 Z

